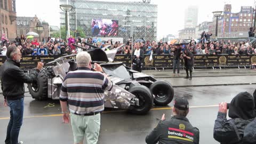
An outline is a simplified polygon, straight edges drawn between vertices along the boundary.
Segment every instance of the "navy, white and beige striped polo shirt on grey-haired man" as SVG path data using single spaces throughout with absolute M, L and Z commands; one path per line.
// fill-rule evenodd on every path
M 70 113 L 83 115 L 104 110 L 104 91 L 113 83 L 102 73 L 79 67 L 63 79 L 60 101 L 67 101 Z

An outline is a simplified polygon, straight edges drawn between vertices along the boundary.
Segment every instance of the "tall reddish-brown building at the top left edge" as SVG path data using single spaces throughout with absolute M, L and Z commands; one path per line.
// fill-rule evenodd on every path
M 13 41 L 16 34 L 16 6 L 15 0 L 0 0 L 0 31 L 5 33 L 10 41 Z

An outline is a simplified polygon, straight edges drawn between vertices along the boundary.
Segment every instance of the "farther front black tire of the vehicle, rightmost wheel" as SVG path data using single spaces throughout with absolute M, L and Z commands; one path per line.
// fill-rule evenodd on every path
M 157 106 L 166 106 L 173 99 L 173 87 L 170 83 L 166 81 L 156 81 L 150 85 L 149 89 L 153 93 L 153 95 L 155 95 L 154 103 Z

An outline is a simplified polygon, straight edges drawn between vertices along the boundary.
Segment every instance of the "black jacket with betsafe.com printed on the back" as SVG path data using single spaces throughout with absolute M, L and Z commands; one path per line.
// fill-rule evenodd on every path
M 160 121 L 155 129 L 146 137 L 148 144 L 199 143 L 199 130 L 193 127 L 184 116 L 173 116 Z

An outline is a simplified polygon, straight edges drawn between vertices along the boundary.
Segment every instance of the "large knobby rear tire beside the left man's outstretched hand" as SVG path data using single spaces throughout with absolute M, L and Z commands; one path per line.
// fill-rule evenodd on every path
M 45 100 L 48 97 L 48 77 L 50 73 L 43 68 L 38 76 L 37 80 L 28 84 L 28 91 L 32 98 L 36 100 Z

